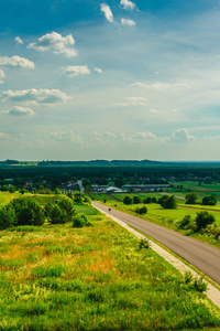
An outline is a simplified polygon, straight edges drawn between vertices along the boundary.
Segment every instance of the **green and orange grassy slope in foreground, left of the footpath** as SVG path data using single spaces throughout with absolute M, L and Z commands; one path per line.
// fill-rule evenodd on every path
M 219 330 L 219 310 L 164 259 L 88 218 L 0 233 L 0 330 Z

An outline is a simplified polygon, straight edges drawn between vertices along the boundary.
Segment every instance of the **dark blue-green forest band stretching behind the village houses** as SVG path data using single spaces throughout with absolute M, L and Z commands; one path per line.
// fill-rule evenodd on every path
M 0 180 L 4 179 L 25 179 L 31 181 L 35 179 L 44 179 L 45 181 L 57 185 L 62 182 L 74 179 L 113 179 L 134 178 L 139 182 L 139 178 L 153 179 L 169 179 L 169 177 L 176 178 L 176 180 L 187 180 L 189 177 L 195 178 L 210 178 L 219 181 L 220 179 L 220 167 L 208 168 L 208 167 L 185 167 L 184 164 L 178 167 L 70 167 L 70 166 L 48 166 L 48 167 L 0 167 Z M 128 183 L 128 180 L 125 180 Z M 156 182 L 155 182 L 156 183 Z M 100 183 L 101 184 L 101 183 Z M 103 183 L 105 184 L 105 183 Z

